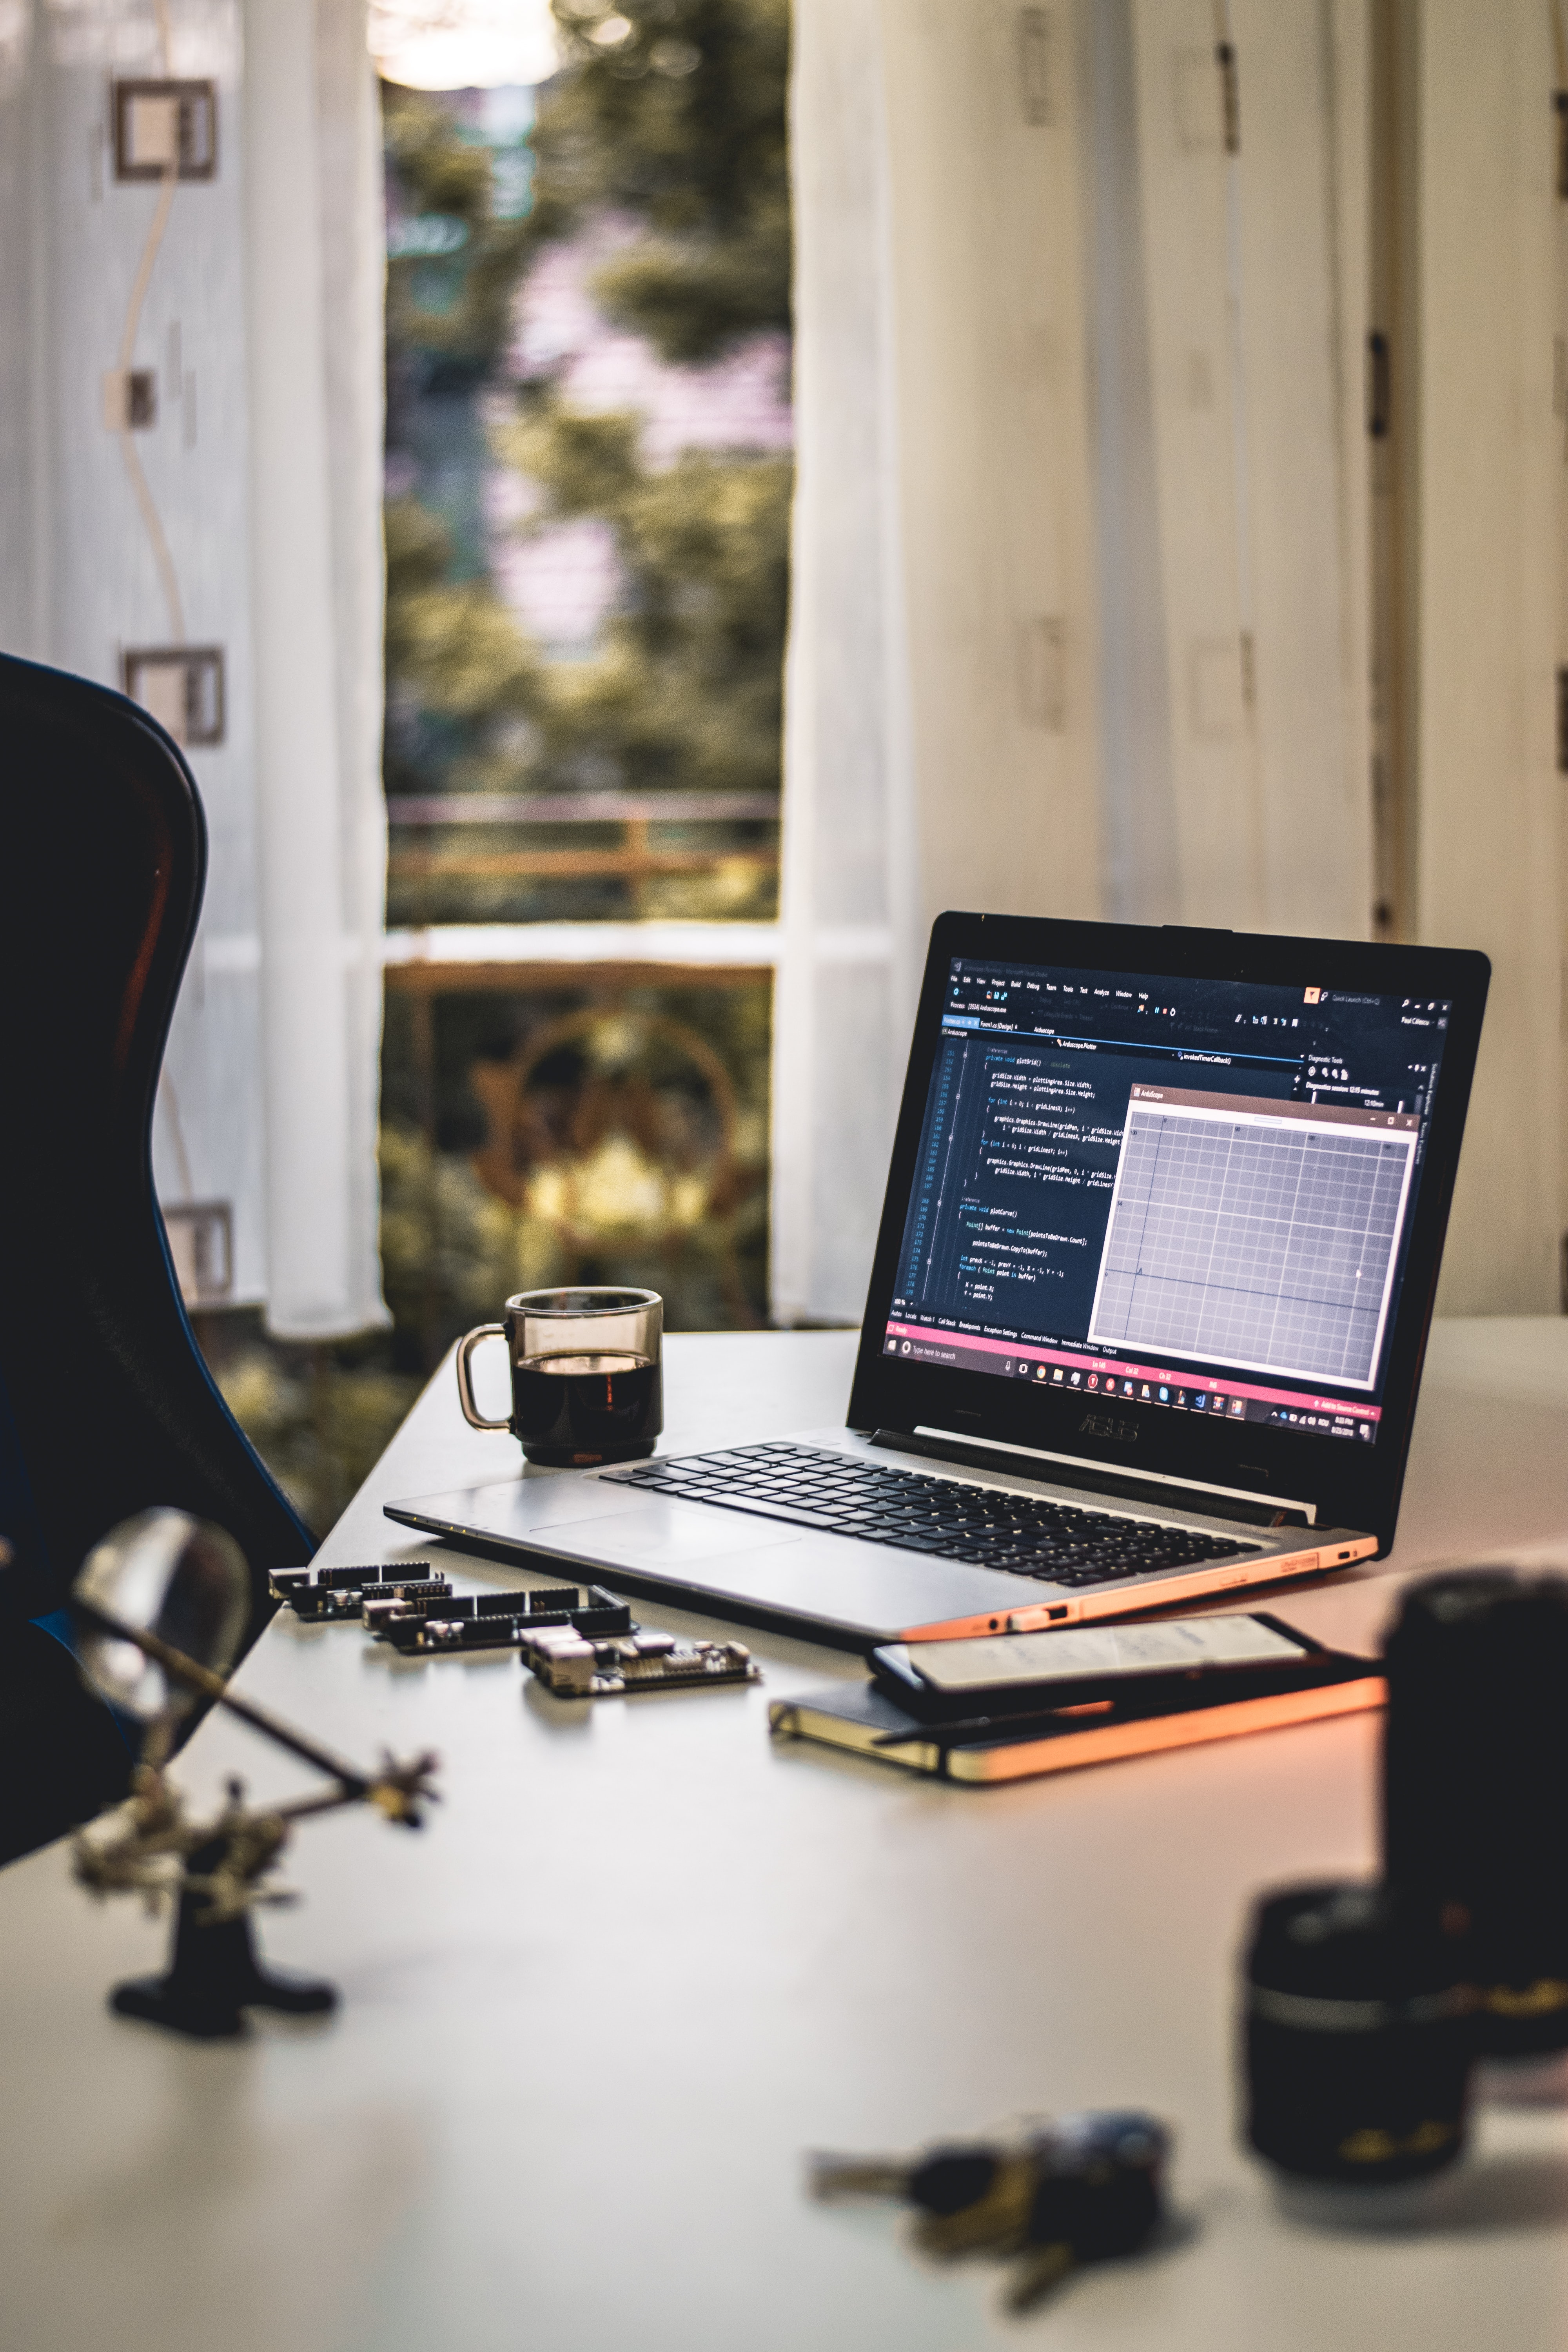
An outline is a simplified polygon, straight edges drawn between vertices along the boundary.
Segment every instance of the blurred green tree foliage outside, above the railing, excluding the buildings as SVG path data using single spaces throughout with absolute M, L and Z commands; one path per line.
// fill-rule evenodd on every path
M 637 235 L 597 273 L 595 299 L 665 360 L 788 332 L 788 0 L 555 9 L 567 68 L 541 94 L 524 221 L 489 219 L 489 155 L 440 101 L 388 92 L 388 158 L 409 207 L 468 228 L 449 261 L 393 263 L 393 365 L 400 353 L 494 358 L 529 259 L 607 216 Z M 440 313 L 416 301 L 433 268 L 458 287 Z M 691 449 L 649 473 L 637 416 L 581 414 L 548 379 L 524 386 L 491 447 L 543 492 L 536 524 L 611 527 L 623 604 L 592 659 L 545 661 L 489 583 L 458 576 L 442 522 L 414 499 L 390 501 L 388 776 L 407 786 L 435 771 L 463 790 L 776 790 L 790 461 Z M 736 901 L 733 913 L 762 908 Z

